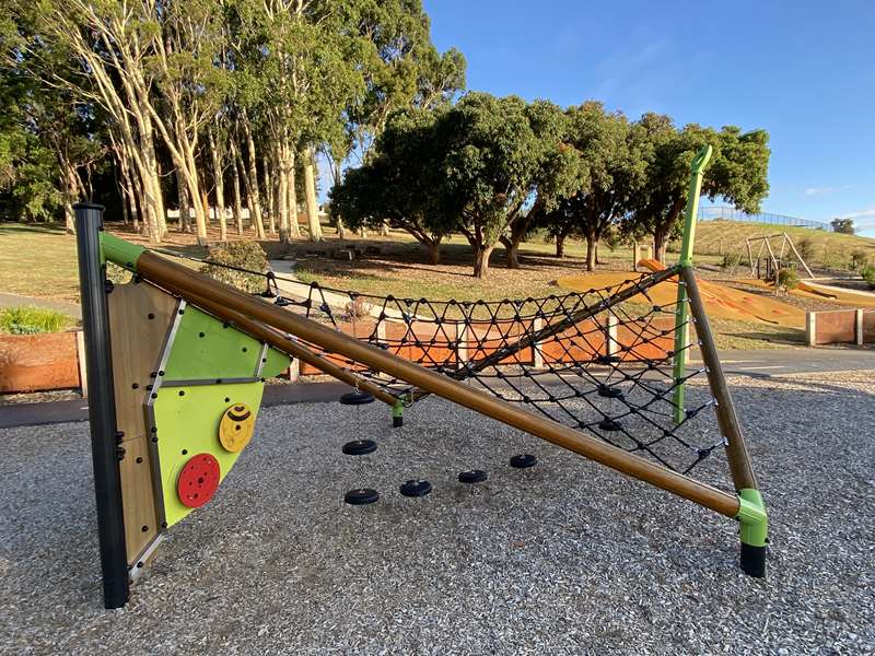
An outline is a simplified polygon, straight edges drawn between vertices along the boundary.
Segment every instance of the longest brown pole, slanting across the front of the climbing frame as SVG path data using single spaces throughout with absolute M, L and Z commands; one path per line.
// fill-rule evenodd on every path
M 536 417 L 508 401 L 495 399 L 483 391 L 463 385 L 444 375 L 430 372 L 342 332 L 331 330 L 281 307 L 254 298 L 234 288 L 167 261 L 154 254 L 143 253 L 137 260 L 137 271 L 145 280 L 150 280 L 184 297 L 197 296 L 212 300 L 215 314 L 220 317 L 228 317 L 231 320 L 232 314 L 249 316 L 278 330 L 289 332 L 299 339 L 316 344 L 322 349 L 341 353 L 371 368 L 406 380 L 425 391 L 459 403 L 508 425 L 521 429 L 617 471 L 714 509 L 727 517 L 734 517 L 738 513 L 740 504 L 738 497 L 733 494 L 628 454 L 620 448 L 579 433 L 558 422 Z

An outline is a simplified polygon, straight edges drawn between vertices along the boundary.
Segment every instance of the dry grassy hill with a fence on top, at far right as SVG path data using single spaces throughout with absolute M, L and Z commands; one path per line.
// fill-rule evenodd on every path
M 738 221 L 701 221 L 696 230 L 696 253 L 698 255 L 725 255 L 744 254 L 745 238 L 780 235 L 786 233 L 802 253 L 810 251 L 806 256 L 809 267 L 850 269 L 854 253 L 875 262 L 875 239 L 859 235 L 843 235 L 839 233 L 809 230 L 806 227 L 790 227 L 786 225 L 772 225 L 769 223 L 742 223 Z M 772 248 L 779 246 L 781 239 L 772 241 Z M 759 246 L 754 246 L 756 256 Z

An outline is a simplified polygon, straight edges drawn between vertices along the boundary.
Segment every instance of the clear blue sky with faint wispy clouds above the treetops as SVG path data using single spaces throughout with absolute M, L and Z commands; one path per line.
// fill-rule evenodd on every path
M 875 0 L 423 1 L 469 89 L 763 128 L 763 211 L 875 236 Z

